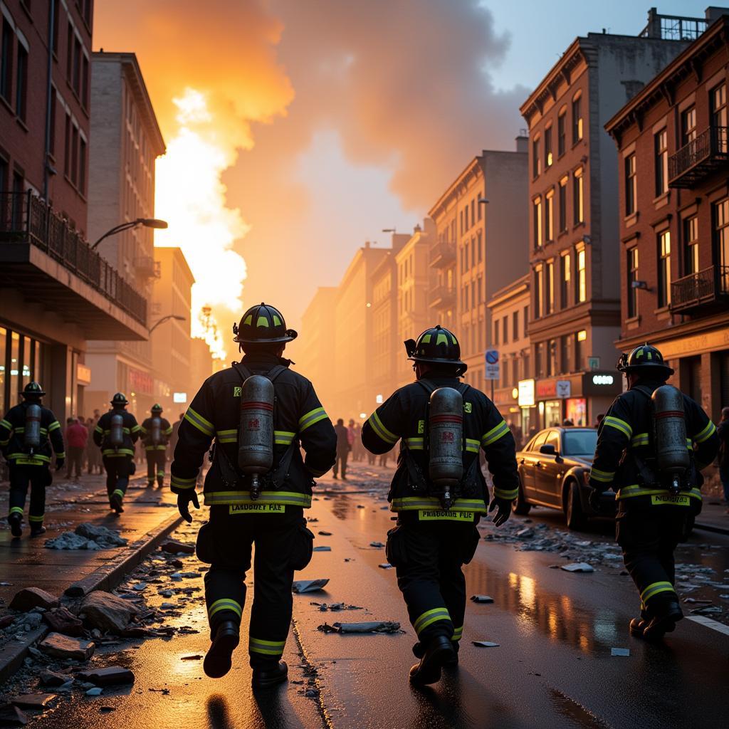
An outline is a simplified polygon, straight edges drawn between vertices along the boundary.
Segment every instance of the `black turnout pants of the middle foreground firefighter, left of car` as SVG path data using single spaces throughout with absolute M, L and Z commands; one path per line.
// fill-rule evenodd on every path
M 474 521 L 421 521 L 421 512 L 402 512 L 388 532 L 387 558 L 422 646 L 446 636 L 458 649 L 466 613 L 461 567 L 472 560 L 478 539 Z

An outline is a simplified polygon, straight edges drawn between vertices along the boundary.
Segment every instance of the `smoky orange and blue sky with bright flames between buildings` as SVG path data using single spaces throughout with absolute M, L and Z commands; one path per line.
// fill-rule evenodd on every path
M 703 17 L 705 0 L 658 3 Z M 168 153 L 156 244 L 182 247 L 220 354 L 265 300 L 297 327 L 364 241 L 409 232 L 577 35 L 637 35 L 635 0 L 97 0 L 94 47 L 136 52 Z

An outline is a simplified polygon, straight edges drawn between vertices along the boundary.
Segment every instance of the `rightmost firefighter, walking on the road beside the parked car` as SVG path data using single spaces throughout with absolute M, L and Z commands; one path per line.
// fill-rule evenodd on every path
M 616 539 L 641 600 L 640 617 L 631 620 L 630 632 L 657 640 L 683 617 L 674 587 L 674 550 L 701 511 L 701 469 L 714 460 L 718 438 L 693 399 L 673 388 L 657 392 L 674 373 L 657 348 L 647 343 L 636 347 L 620 357 L 617 369 L 625 373 L 628 390 L 615 398 L 598 427 L 590 504 L 599 510 L 603 492 L 612 488 L 616 493 Z M 656 397 L 666 391 L 674 392 L 676 404 L 660 412 Z M 666 487 L 657 457 L 671 445 L 662 442 L 666 437 L 659 418 L 666 416 L 685 421 L 685 432 L 679 434 L 685 442 L 678 443 L 678 453 L 689 465 L 676 488 Z

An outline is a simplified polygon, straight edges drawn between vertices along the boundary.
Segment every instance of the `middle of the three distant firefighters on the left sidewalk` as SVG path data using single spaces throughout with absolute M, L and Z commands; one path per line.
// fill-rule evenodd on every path
M 129 401 L 124 394 L 117 392 L 112 397 L 111 405 L 112 409 L 99 418 L 93 432 L 93 442 L 101 448 L 109 507 L 114 513 L 121 514 L 129 477 L 134 472 L 134 443 L 139 438 L 141 428 L 126 409 Z

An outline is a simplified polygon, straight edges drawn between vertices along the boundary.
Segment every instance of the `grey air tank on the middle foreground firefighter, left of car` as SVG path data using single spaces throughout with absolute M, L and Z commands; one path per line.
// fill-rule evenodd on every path
M 440 387 L 430 396 L 428 415 L 428 475 L 443 491 L 441 503 L 453 504 L 453 488 L 463 478 L 463 397 L 452 387 Z

